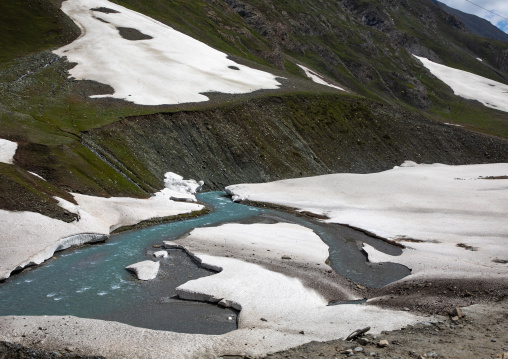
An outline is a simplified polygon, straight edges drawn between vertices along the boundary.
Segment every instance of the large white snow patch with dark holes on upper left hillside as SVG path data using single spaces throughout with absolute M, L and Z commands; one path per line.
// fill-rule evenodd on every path
M 117 12 L 91 10 L 100 7 Z M 240 94 L 280 86 L 272 74 L 240 65 L 220 51 L 112 2 L 67 0 L 62 11 L 79 26 L 81 36 L 55 53 L 77 63 L 69 71 L 77 80 L 97 81 L 114 89 L 113 94 L 94 98 L 163 105 L 207 101 L 206 92 Z M 134 28 L 152 39 L 124 39 L 118 27 Z

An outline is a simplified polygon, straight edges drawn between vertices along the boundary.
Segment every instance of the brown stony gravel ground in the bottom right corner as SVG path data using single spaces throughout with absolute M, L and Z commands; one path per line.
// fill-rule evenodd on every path
M 464 317 L 442 317 L 401 330 L 368 333 L 357 340 L 312 342 L 268 358 L 508 358 L 508 301 L 463 308 Z M 386 340 L 385 347 L 379 343 Z

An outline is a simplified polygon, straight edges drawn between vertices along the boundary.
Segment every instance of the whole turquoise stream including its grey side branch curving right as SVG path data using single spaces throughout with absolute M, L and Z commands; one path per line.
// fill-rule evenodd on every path
M 98 245 L 55 254 L 39 267 L 0 284 L 0 315 L 73 315 L 182 333 L 223 334 L 237 328 L 238 312 L 230 308 L 184 301 L 175 288 L 188 280 L 213 275 L 182 250 L 161 260 L 157 278 L 138 281 L 125 267 L 146 259 L 164 240 L 175 240 L 194 228 L 227 222 L 290 222 L 314 230 L 329 246 L 330 266 L 340 275 L 379 288 L 409 275 L 398 264 L 371 264 L 359 243 L 392 255 L 401 250 L 359 231 L 311 221 L 295 214 L 234 203 L 224 192 L 197 198 L 213 207 L 207 215 L 112 235 Z

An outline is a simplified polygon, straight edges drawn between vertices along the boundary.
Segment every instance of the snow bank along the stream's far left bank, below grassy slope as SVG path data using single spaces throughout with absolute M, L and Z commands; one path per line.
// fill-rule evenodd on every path
M 202 205 L 175 202 L 164 191 L 148 199 L 93 197 L 73 194 L 77 205 L 56 198 L 59 205 L 75 213 L 78 221 L 66 223 L 35 212 L 0 210 L 0 278 L 17 268 L 40 264 L 57 250 L 71 245 L 104 240 L 119 227 L 156 217 L 197 211 Z

